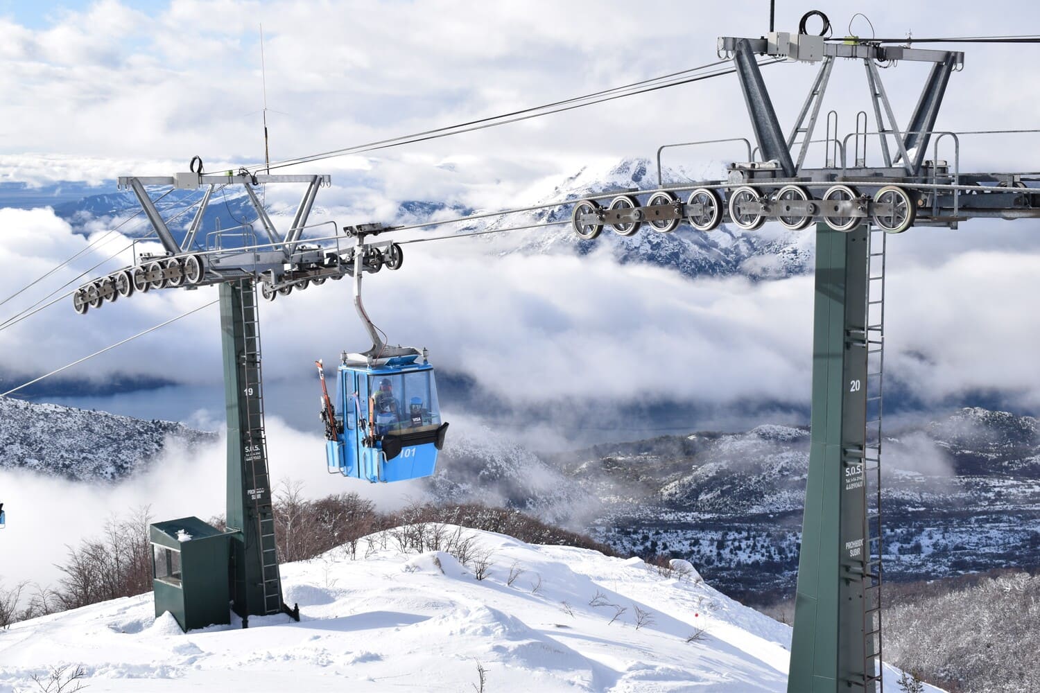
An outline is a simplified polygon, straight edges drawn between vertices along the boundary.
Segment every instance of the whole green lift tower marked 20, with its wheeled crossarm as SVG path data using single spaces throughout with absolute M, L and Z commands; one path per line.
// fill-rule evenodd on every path
M 578 201 L 572 214 L 574 231 L 584 240 L 604 226 L 629 236 L 643 223 L 658 233 L 671 233 L 682 221 L 700 232 L 723 221 L 744 231 L 766 220 L 791 231 L 816 223 L 812 430 L 790 693 L 881 693 L 883 688 L 881 426 L 888 235 L 913 225 L 956 229 L 972 218 L 1040 218 L 1040 179 L 1034 175 L 960 170 L 965 135 L 1040 131 L 936 131 L 943 95 L 964 54 L 891 43 L 777 31 L 759 38 L 719 38 L 719 57 L 733 61 L 757 146 L 745 138 L 666 144 L 657 152 L 658 187 L 645 191 L 646 199 L 638 190 L 604 192 Z M 786 135 L 759 56 L 818 65 Z M 863 65 L 876 129 L 868 131 L 868 115 L 860 111 L 855 131 L 841 137 L 832 110 L 826 136 L 813 139 L 839 59 Z M 931 63 L 931 70 L 901 129 L 879 66 L 907 60 Z M 726 180 L 661 180 L 662 150 L 725 141 L 745 142 L 748 157 L 728 165 Z M 872 141 L 878 142 L 880 162 L 867 158 Z M 939 158 L 940 142 L 946 152 L 952 145 L 951 161 Z M 822 166 L 808 165 L 813 143 L 823 145 Z M 607 206 L 600 205 L 607 199 Z

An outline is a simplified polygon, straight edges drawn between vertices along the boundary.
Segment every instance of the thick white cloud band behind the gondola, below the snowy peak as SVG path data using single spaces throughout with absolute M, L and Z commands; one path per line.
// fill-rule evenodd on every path
M 86 243 L 47 210 L 0 210 L 0 226 L 8 230 L 2 297 Z M 1040 342 L 1040 326 L 1029 319 L 1040 293 L 1040 252 L 970 250 L 936 261 L 901 252 L 914 233 L 889 244 L 886 372 L 926 401 L 996 388 L 1023 405 L 1040 404 L 1040 366 L 1029 347 Z M 123 243 L 120 237 L 105 249 Z M 471 374 L 515 403 L 808 402 L 811 276 L 690 281 L 657 267 L 618 266 L 602 254 L 486 251 L 472 241 L 406 246 L 399 271 L 366 276 L 369 314 L 391 342 L 427 346 L 435 365 Z M 84 257 L 76 266 L 94 262 Z M 4 317 L 77 271 L 12 300 Z M 267 378 L 306 374 L 301 387 L 311 387 L 314 358 L 334 363 L 343 349 L 367 347 L 350 289 L 329 282 L 262 305 Z M 0 330 L 0 367 L 23 376 L 57 368 L 215 294 L 135 295 L 82 317 L 67 299 Z M 215 306 L 71 372 L 95 379 L 111 373 L 218 383 Z

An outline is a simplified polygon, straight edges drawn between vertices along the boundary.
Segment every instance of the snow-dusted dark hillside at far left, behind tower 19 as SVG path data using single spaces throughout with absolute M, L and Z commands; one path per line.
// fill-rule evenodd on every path
M 0 397 L 0 469 L 28 469 L 78 481 L 118 481 L 171 437 L 192 446 L 214 433 L 57 404 Z

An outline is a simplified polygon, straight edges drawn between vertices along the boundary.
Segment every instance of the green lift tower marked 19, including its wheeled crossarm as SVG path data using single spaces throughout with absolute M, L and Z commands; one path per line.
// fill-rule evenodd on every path
M 288 613 L 298 620 L 298 608 L 290 609 L 283 603 L 275 541 L 264 430 L 258 297 L 262 295 L 274 300 L 293 289 L 306 289 L 312 283 L 319 285 L 329 278 L 353 275 L 356 267 L 364 272 L 378 271 L 385 264 L 384 255 L 390 254 L 392 244 L 364 243 L 361 240 L 364 234 L 354 229 L 350 230 L 353 236 L 340 235 L 334 222 L 327 222 L 331 224 L 331 240 L 327 238 L 322 243 L 302 241 L 303 232 L 309 228 L 307 220 L 318 188 L 329 185 L 328 176 L 261 176 L 244 170 L 204 175 L 202 162 L 197 161 L 192 161 L 190 172 L 173 177 L 119 179 L 120 187 L 129 188 L 137 197 L 164 251 L 141 255 L 137 264 L 83 285 L 73 295 L 73 306 L 77 313 L 84 314 L 107 301 L 138 292 L 218 285 L 228 422 L 226 534 L 230 550 L 226 563 L 212 564 L 207 569 L 227 571 L 232 608 L 242 618 L 243 627 L 249 624 L 249 617 L 255 615 Z M 306 184 L 306 190 L 291 226 L 280 236 L 255 188 L 283 183 Z M 175 234 L 171 230 L 149 193 L 150 186 L 203 191 L 194 217 L 183 232 Z M 201 235 L 212 193 L 227 187 L 244 189 L 256 212 L 256 224 Z M 262 237 L 258 237 L 256 226 Z M 392 268 L 400 266 L 399 248 L 396 252 L 398 262 L 391 264 Z M 168 533 L 174 522 L 159 525 Z M 168 569 L 176 577 L 174 568 L 170 566 Z M 189 599 L 191 591 L 186 588 L 191 577 L 186 565 L 183 569 L 184 575 L 177 583 L 183 583 L 183 599 Z M 201 582 L 212 579 L 212 575 L 203 576 Z M 159 598 L 157 590 L 157 608 Z M 191 605 L 185 605 L 184 609 L 190 612 Z

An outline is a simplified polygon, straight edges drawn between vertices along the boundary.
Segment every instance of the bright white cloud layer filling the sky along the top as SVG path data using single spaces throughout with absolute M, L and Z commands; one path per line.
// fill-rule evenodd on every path
M 830 14 L 835 32 L 844 31 L 852 14 L 846 3 L 818 4 Z M 1014 17 L 980 17 L 966 0 L 945 7 L 948 11 L 936 14 L 889 1 L 869 14 L 880 33 L 901 36 L 910 29 L 916 35 L 1017 33 L 1022 22 L 1040 12 L 1024 7 Z M 794 29 L 799 14 L 781 7 L 778 27 Z M 764 0 L 696 9 L 662 2 L 634 16 L 622 2 L 474 7 L 459 0 L 175 0 L 141 8 L 106 0 L 83 10 L 53 12 L 42 28 L 0 20 L 0 89 L 5 95 L 0 152 L 256 160 L 262 153 L 260 23 L 267 38 L 268 104 L 281 111 L 268 113 L 271 152 L 279 159 L 706 63 L 714 59 L 718 35 L 758 35 L 766 15 Z M 1002 83 L 1007 79 L 1002 70 L 1021 64 L 1032 50 L 968 47 L 966 70 L 951 82 L 939 127 L 1028 124 L 1028 113 L 1014 123 L 1009 113 L 1032 108 L 1040 87 L 1017 80 L 1009 88 Z M 884 74 L 896 114 L 904 118 L 924 70 L 904 62 Z M 770 83 L 783 86 L 774 90 L 774 101 L 784 124 L 801 105 L 813 72 L 809 65 L 769 69 Z M 831 90 L 828 108 L 870 110 L 859 65 L 842 61 Z M 850 130 L 851 110 L 843 121 Z M 520 162 L 531 180 L 558 172 L 562 158 L 648 155 L 666 141 L 748 132 L 743 99 L 730 76 L 411 149 L 437 159 L 493 153 L 501 171 L 510 170 L 505 162 Z M 1015 149 L 1009 148 L 1008 156 Z M 972 151 L 965 142 L 962 154 L 965 165 L 985 161 L 988 144 Z

